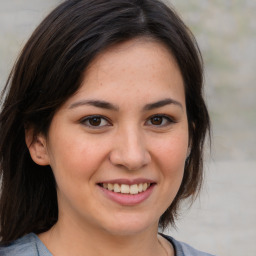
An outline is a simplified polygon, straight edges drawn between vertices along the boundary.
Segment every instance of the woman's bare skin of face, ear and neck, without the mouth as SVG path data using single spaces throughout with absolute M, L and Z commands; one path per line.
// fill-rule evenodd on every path
M 157 236 L 158 222 L 180 187 L 189 138 L 183 79 L 165 46 L 137 39 L 108 49 L 57 111 L 47 137 L 32 141 L 32 133 L 31 156 L 52 167 L 57 183 L 58 222 L 39 235 L 53 255 L 174 255 Z M 154 187 L 136 205 L 109 199 L 98 185 L 137 178 Z

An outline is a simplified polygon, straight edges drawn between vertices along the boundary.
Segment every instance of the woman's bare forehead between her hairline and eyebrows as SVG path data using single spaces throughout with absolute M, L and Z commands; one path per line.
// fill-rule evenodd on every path
M 74 97 L 109 101 L 123 94 L 143 101 L 168 96 L 184 101 L 180 69 L 165 45 L 136 39 L 112 46 L 92 61 Z

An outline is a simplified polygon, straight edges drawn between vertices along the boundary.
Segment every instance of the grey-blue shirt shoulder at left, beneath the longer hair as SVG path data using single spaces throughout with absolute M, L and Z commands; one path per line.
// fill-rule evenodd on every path
M 0 246 L 1 256 L 51 256 L 39 238 L 30 233 L 7 246 Z

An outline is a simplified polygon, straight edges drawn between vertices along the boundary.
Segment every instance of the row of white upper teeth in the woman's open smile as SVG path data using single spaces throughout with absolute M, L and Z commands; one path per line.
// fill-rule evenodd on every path
M 138 193 L 146 191 L 149 188 L 150 183 L 139 183 L 133 185 L 103 183 L 102 185 L 103 188 L 114 191 L 115 193 L 136 195 Z

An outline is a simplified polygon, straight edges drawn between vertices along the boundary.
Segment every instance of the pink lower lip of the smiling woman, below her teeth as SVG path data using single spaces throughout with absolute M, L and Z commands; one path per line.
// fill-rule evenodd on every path
M 120 204 L 120 205 L 137 205 L 145 201 L 153 192 L 154 184 L 152 184 L 146 191 L 131 195 L 131 194 L 122 194 L 122 193 L 115 193 L 103 187 L 99 188 L 103 191 L 103 193 L 112 201 Z

